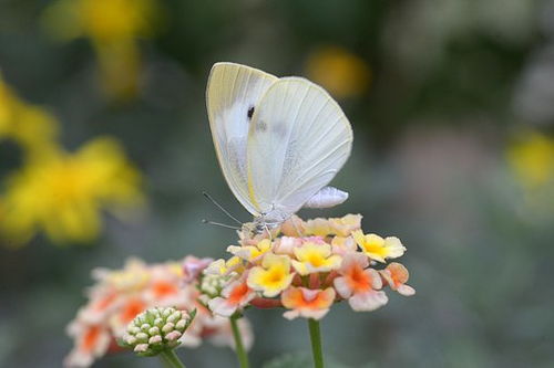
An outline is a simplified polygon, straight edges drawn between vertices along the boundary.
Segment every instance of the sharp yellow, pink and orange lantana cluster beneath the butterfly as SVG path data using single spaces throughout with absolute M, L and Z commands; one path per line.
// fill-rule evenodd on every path
M 387 304 L 387 287 L 413 295 L 413 287 L 406 284 L 408 270 L 389 263 L 406 248 L 396 236 L 363 233 L 361 218 L 293 217 L 271 234 L 256 234 L 245 227 L 239 244 L 227 248 L 233 256 L 204 271 L 204 277 L 219 280 L 209 308 L 232 316 L 249 305 L 281 306 L 288 319 L 320 319 L 341 301 L 353 311 L 375 311 Z

